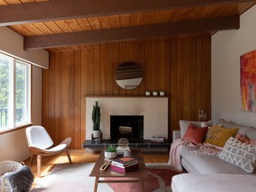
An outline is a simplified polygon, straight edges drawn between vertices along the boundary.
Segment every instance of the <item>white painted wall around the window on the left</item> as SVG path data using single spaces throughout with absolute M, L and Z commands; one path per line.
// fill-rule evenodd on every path
M 0 28 L 0 50 L 23 60 L 49 66 L 49 54 L 44 50 L 25 52 L 22 37 L 9 28 Z M 42 68 L 32 66 L 32 123 L 42 124 Z M 0 134 L 0 161 L 24 161 L 30 156 L 25 128 Z

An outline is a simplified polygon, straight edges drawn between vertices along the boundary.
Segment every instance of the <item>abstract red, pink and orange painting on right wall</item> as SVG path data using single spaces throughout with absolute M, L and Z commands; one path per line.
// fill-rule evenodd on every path
M 240 57 L 242 110 L 256 112 L 256 50 Z

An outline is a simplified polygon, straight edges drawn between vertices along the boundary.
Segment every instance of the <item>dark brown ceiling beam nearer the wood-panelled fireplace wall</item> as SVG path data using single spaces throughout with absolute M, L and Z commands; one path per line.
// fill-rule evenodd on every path
M 187 20 L 156 25 L 134 26 L 131 28 L 110 28 L 59 35 L 26 36 L 24 37 L 24 49 L 46 49 L 72 44 L 93 44 L 151 37 L 189 35 L 237 28 L 239 28 L 239 16 L 207 20 Z

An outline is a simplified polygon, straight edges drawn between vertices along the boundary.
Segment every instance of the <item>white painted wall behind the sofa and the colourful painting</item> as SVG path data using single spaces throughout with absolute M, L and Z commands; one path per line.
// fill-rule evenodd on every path
M 256 50 L 256 6 L 240 17 L 238 30 L 212 36 L 212 121 L 221 118 L 256 127 L 256 113 L 242 112 L 240 56 Z

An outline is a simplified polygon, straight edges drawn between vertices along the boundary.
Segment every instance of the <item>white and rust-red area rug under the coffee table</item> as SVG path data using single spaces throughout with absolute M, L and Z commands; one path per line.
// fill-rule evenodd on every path
M 58 164 L 52 172 L 35 180 L 32 192 L 91 192 L 94 177 L 89 177 L 94 164 Z M 156 164 L 155 164 L 156 165 Z M 144 179 L 145 191 L 164 192 L 171 190 L 172 176 L 182 172 L 173 171 L 167 166 L 148 164 L 148 177 Z M 111 179 L 110 179 L 111 180 Z M 106 184 L 100 183 L 98 191 L 102 192 L 137 192 L 140 185 L 136 183 Z

